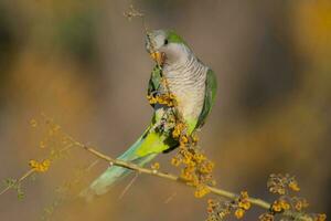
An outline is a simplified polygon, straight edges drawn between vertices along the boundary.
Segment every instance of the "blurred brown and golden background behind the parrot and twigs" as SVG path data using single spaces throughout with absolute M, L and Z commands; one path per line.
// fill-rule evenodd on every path
M 152 61 L 141 20 L 124 17 L 130 3 L 153 29 L 174 29 L 216 73 L 216 105 L 201 145 L 216 164 L 217 185 L 273 200 L 273 172 L 295 175 L 310 211 L 331 208 L 331 1 L 239 0 L 1 0 L 0 180 L 20 177 L 42 159 L 40 133 L 29 122 L 45 113 L 76 139 L 110 156 L 148 125 Z M 170 166 L 172 154 L 157 160 Z M 74 151 L 25 182 L 25 198 L 0 197 L 1 220 L 40 220 L 56 187 L 92 162 Z M 85 186 L 107 165 L 86 175 Z M 51 220 L 204 220 L 206 204 L 192 189 L 139 176 L 92 203 L 61 204 Z M 83 185 L 84 186 L 84 185 Z M 78 189 L 78 188 L 77 188 Z M 76 190 L 78 191 L 78 190 Z M 171 200 L 169 200 L 171 198 Z M 246 220 L 263 211 L 253 209 Z

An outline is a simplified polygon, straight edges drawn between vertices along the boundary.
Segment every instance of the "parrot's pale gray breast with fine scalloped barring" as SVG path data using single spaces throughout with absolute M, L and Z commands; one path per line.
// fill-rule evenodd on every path
M 191 56 L 181 64 L 166 65 L 163 75 L 170 93 L 178 101 L 178 110 L 185 120 L 199 118 L 205 93 L 207 67 Z

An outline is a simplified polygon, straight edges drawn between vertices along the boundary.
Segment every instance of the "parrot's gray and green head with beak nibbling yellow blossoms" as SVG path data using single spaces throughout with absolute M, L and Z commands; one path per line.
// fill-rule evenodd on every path
M 174 31 L 153 30 L 146 36 L 146 50 L 159 64 L 174 64 L 184 62 L 190 49 L 183 39 Z

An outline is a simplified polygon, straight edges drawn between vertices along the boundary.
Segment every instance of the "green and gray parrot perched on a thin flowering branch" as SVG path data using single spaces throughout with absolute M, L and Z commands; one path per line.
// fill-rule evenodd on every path
M 151 104 L 154 110 L 151 124 L 141 137 L 118 157 L 139 166 L 179 146 L 179 141 L 171 134 L 174 127 L 170 120 L 172 113 L 185 123 L 189 135 L 201 128 L 211 113 L 217 88 L 214 72 L 193 54 L 174 31 L 149 31 L 146 49 L 157 61 L 149 81 L 148 95 L 158 96 L 168 90 L 174 95 L 177 105 L 170 107 L 164 104 Z M 168 88 L 161 83 L 162 78 L 167 81 Z M 110 166 L 82 194 L 87 198 L 104 194 L 115 182 L 129 173 L 129 169 Z

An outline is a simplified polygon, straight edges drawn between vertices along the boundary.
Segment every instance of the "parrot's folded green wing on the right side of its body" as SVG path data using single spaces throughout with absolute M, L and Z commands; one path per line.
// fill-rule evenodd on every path
M 215 103 L 216 91 L 217 91 L 216 76 L 214 72 L 211 69 L 209 69 L 206 80 L 205 80 L 204 103 L 195 128 L 201 128 L 204 125 L 205 119 L 211 113 L 212 107 Z

